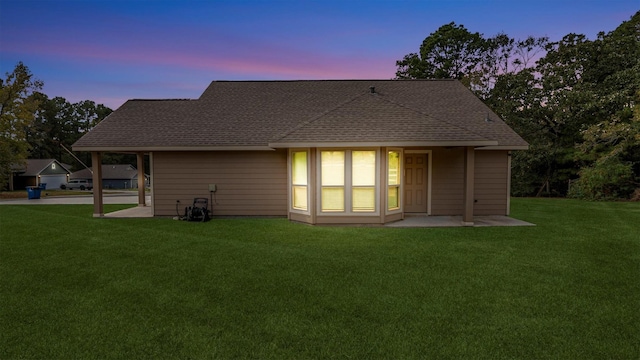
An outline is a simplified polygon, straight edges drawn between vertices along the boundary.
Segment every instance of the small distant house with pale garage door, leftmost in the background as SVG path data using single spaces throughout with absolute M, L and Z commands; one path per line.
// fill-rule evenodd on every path
M 24 190 L 27 186 L 46 184 L 47 189 L 59 189 L 69 179 L 69 165 L 56 159 L 28 159 L 26 166 L 13 169 L 9 189 Z

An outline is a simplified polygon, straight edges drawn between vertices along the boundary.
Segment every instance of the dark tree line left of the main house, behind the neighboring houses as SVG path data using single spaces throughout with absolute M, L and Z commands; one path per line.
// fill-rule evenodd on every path
M 0 78 L 0 190 L 11 172 L 27 159 L 56 159 L 81 170 L 83 165 L 66 149 L 113 112 L 91 100 L 71 103 L 63 97 L 42 93 L 44 83 L 19 62 Z M 91 154 L 74 152 L 91 164 Z M 135 155 L 105 154 L 104 164 L 135 164 Z

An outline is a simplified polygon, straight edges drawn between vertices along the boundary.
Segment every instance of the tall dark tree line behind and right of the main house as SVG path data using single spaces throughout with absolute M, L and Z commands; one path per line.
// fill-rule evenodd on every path
M 513 154 L 513 195 L 640 198 L 640 12 L 595 40 L 449 23 L 396 66 L 398 79 L 460 80 L 529 142 Z

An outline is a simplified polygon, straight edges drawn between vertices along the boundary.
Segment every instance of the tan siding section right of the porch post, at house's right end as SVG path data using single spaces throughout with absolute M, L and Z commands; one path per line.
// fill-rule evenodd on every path
M 507 214 L 507 151 L 476 151 L 475 215 Z

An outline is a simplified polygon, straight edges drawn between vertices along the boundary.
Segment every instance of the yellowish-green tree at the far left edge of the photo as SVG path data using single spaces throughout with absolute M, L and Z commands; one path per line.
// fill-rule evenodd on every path
M 43 86 L 29 68 L 19 62 L 6 78 L 0 79 L 0 188 L 8 183 L 12 168 L 24 165 L 29 144 L 26 129 L 38 109 L 35 92 Z

